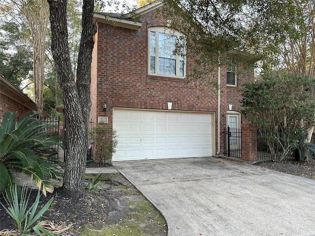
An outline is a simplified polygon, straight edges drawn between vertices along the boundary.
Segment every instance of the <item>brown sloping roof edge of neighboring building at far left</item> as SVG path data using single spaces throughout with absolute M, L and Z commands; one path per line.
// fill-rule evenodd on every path
M 2 75 L 0 75 L 0 93 L 29 108 L 30 111 L 36 111 L 36 104 L 32 99 L 20 89 L 12 85 L 11 82 L 5 79 Z M 46 112 L 43 112 L 43 115 L 49 117 Z

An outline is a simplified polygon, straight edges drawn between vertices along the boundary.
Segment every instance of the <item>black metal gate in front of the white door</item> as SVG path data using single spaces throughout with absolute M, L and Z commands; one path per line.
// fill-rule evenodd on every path
M 242 158 L 242 131 L 237 128 L 225 129 L 224 155 Z

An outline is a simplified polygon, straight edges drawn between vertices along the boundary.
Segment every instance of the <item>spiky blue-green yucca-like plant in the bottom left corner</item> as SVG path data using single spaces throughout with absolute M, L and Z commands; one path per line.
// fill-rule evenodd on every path
M 23 185 L 21 195 L 18 195 L 18 190 L 16 185 L 10 186 L 10 193 L 5 191 L 5 201 L 8 207 L 5 207 L 2 203 L 2 207 L 6 210 L 6 212 L 16 221 L 20 235 L 29 236 L 31 231 L 33 230 L 36 235 L 41 236 L 41 233 L 44 233 L 47 236 L 53 236 L 53 234 L 47 229 L 43 228 L 40 224 L 43 223 L 37 222 L 37 220 L 45 213 L 45 211 L 51 206 L 53 202 L 53 198 L 51 198 L 44 207 L 42 207 L 37 214 L 37 208 L 40 198 L 40 190 L 37 192 L 36 199 L 32 206 L 27 209 L 29 199 L 31 196 L 32 189 L 28 192 L 28 187 Z

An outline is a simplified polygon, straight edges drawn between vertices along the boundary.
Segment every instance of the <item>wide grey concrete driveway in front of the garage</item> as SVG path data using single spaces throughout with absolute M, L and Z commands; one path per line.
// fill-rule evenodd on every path
M 168 236 L 315 236 L 315 180 L 221 158 L 114 163 Z

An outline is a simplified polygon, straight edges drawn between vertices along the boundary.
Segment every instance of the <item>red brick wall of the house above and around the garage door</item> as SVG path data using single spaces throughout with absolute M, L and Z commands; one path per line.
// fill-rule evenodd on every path
M 185 79 L 149 74 L 148 29 L 166 24 L 157 19 L 154 11 L 142 15 L 140 21 L 142 27 L 139 30 L 102 23 L 97 25 L 91 84 L 93 122 L 97 122 L 98 116 L 107 116 L 111 124 L 113 107 L 166 110 L 167 102 L 172 102 L 172 110 L 216 112 L 217 124 L 218 94 L 212 89 L 203 88 L 202 92 L 198 92 Z M 188 58 L 187 74 L 192 63 L 193 59 Z M 214 71 L 213 78 L 218 78 L 218 70 Z M 241 95 L 237 90 L 241 83 L 250 79 L 253 79 L 253 72 L 247 71 L 238 76 L 238 87 L 226 87 L 226 70 L 221 68 L 221 151 L 224 148 L 223 128 L 226 127 L 228 104 L 233 104 L 232 110 L 240 111 Z M 102 110 L 104 101 L 108 106 L 106 113 Z M 217 131 L 215 135 L 217 140 Z

